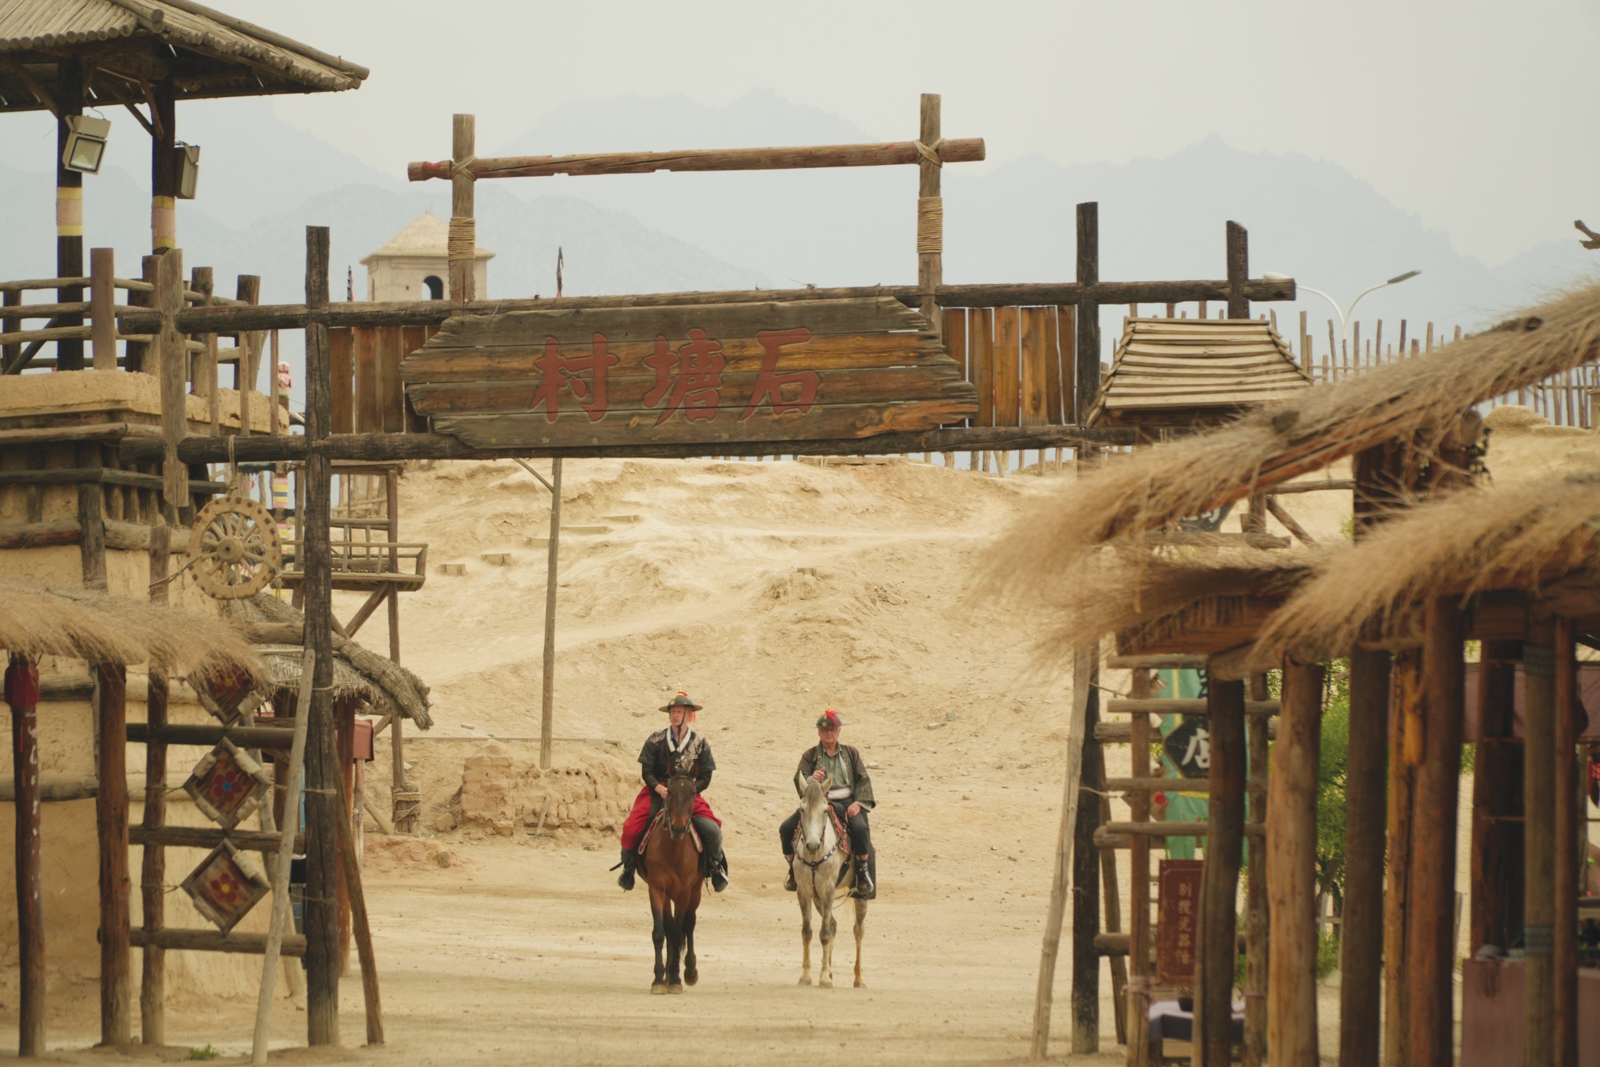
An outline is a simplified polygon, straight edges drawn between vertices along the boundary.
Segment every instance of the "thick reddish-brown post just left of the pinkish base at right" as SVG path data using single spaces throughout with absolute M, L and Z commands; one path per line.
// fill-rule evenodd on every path
M 1453 976 L 1456 969 L 1456 800 L 1461 784 L 1464 715 L 1464 622 L 1456 598 L 1427 603 L 1422 633 L 1421 745 L 1413 793 L 1413 825 L 1426 819 L 1427 848 L 1410 849 L 1405 982 L 1406 1067 L 1450 1067 L 1453 1057 Z M 1406 729 L 1418 725 L 1410 720 Z M 1531 1061 L 1530 1062 L 1538 1062 Z

